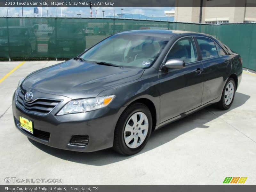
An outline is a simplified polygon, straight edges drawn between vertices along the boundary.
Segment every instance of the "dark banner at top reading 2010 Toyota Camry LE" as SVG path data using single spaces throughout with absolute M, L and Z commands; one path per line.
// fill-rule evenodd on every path
M 256 0 L 0 0 L 0 7 L 256 7 Z

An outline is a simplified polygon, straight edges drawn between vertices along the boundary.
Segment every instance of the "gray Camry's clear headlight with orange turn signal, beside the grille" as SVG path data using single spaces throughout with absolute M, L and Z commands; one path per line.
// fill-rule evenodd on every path
M 96 97 L 92 99 L 72 100 L 69 101 L 57 114 L 65 115 L 70 113 L 81 113 L 86 111 L 92 111 L 99 108 L 108 106 L 114 99 L 115 95 L 108 95 L 103 97 Z

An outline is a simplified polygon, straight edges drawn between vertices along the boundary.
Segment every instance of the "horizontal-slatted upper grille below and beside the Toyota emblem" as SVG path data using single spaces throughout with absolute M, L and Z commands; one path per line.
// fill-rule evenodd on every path
M 25 92 L 21 89 L 18 90 L 16 104 L 22 110 L 34 113 L 38 115 L 47 115 L 55 108 L 61 100 L 54 100 L 54 99 L 44 99 L 38 98 L 31 103 L 28 103 L 24 100 Z

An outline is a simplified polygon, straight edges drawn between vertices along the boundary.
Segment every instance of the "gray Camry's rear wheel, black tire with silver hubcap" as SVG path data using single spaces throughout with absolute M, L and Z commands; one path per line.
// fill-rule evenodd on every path
M 227 110 L 231 107 L 236 93 L 236 83 L 233 78 L 229 78 L 222 91 L 220 101 L 217 103 L 217 107 L 222 110 Z

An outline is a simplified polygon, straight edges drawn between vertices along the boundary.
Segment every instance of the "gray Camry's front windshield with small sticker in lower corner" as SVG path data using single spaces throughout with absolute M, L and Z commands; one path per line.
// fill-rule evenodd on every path
M 148 68 L 168 41 L 169 38 L 163 37 L 114 35 L 92 47 L 81 58 L 122 67 Z

